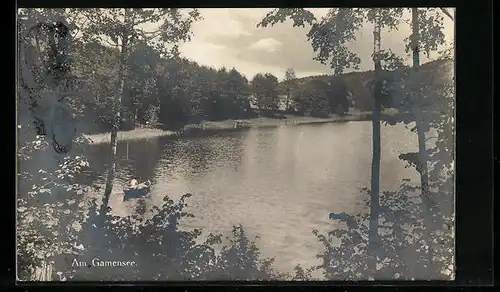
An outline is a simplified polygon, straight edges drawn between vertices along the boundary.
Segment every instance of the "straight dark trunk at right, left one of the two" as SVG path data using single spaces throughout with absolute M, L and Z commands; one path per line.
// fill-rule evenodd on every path
M 370 224 L 369 224 L 369 243 L 368 243 L 368 269 L 376 274 L 377 254 L 380 248 L 378 234 L 379 207 L 379 188 L 380 188 L 380 111 L 382 82 L 380 74 L 382 71 L 380 60 L 380 19 L 377 19 L 373 30 L 373 61 L 375 65 L 375 86 L 373 87 L 373 112 L 372 112 L 372 177 L 370 192 Z

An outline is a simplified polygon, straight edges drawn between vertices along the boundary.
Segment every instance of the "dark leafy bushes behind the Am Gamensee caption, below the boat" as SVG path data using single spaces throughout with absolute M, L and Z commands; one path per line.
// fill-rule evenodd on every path
M 228 246 L 222 236 L 209 234 L 201 240 L 199 229 L 182 230 L 179 222 L 193 217 L 184 211 L 186 194 L 174 202 L 164 198 L 161 208 L 144 220 L 140 215 L 117 217 L 107 214 L 104 226 L 98 227 L 97 205 L 81 233 L 84 250 L 78 261 L 90 263 L 95 255 L 102 260 L 119 258 L 135 261 L 135 267 L 71 267 L 59 261 L 59 276 L 72 280 L 271 280 L 285 277 L 272 268 L 273 259 L 262 259 L 254 241 L 242 226 L 234 226 Z M 143 207 L 142 207 L 143 208 Z M 140 213 L 145 214 L 143 210 Z M 217 252 L 216 250 L 220 250 Z M 57 263 L 56 263 L 57 264 Z M 67 271 L 61 275 L 61 271 Z M 55 276 L 55 275 L 54 275 Z

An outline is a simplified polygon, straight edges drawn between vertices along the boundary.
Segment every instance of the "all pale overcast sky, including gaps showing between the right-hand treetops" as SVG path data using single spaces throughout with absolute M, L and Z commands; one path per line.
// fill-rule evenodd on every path
M 181 53 L 199 64 L 216 68 L 236 68 L 248 79 L 257 73 L 272 73 L 283 78 L 286 68 L 294 68 L 297 77 L 330 74 L 331 69 L 312 60 L 315 56 L 307 42 L 307 28 L 292 27 L 291 22 L 274 27 L 257 28 L 256 24 L 271 11 L 270 8 L 204 8 L 203 20 L 193 27 L 191 42 L 181 45 Z M 328 9 L 311 9 L 316 17 Z M 452 12 L 452 10 L 450 10 Z M 409 15 L 405 15 L 409 19 Z M 383 32 L 382 47 L 405 56 L 403 40 L 410 34 L 408 24 L 398 31 Z M 445 34 L 453 41 L 453 22 L 445 17 Z M 370 55 L 373 51 L 372 25 L 365 25 L 350 48 L 361 58 L 361 70 L 372 70 Z M 435 56 L 431 56 L 431 59 Z M 422 62 L 428 59 L 423 58 Z

